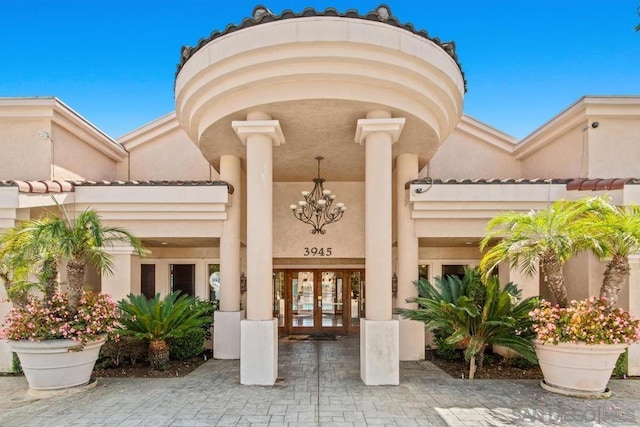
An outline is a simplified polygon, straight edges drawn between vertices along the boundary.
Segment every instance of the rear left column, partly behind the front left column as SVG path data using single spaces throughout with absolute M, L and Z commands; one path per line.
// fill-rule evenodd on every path
M 220 237 L 220 310 L 214 313 L 213 357 L 240 358 L 240 225 L 242 168 L 234 155 L 220 157 L 220 179 L 233 187 Z

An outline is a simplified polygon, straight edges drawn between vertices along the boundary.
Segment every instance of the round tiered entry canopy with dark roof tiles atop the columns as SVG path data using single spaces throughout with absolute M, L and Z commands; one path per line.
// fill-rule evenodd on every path
M 327 180 L 364 180 L 356 123 L 372 110 L 404 117 L 394 157 L 424 165 L 462 114 L 465 81 L 453 43 L 401 24 L 387 6 L 360 15 L 335 9 L 274 15 L 257 7 L 240 25 L 183 48 L 176 75 L 179 122 L 218 167 L 223 154 L 245 161 L 231 128 L 251 111 L 278 120 L 286 144 L 274 151 L 274 181 L 309 180 L 327 158 Z

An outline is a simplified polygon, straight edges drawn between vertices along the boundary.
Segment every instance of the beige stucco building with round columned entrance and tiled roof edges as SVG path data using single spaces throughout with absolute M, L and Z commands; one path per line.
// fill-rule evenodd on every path
M 147 255 L 111 249 L 115 275 L 87 283 L 116 299 L 215 289 L 214 354 L 240 359 L 243 384 L 275 382 L 278 336 L 325 332 L 359 335 L 365 384 L 397 384 L 425 338 L 393 308 L 419 274 L 477 264 L 496 213 L 603 193 L 640 202 L 640 97 L 586 96 L 518 141 L 465 115 L 464 94 L 454 45 L 385 6 L 258 7 L 183 48 L 175 112 L 118 140 L 56 98 L 0 98 L 0 230 L 53 198 L 128 229 Z M 347 208 L 324 234 L 291 206 L 306 206 L 318 165 Z M 596 293 L 602 270 L 570 262 L 570 297 Z M 539 277 L 499 273 L 546 295 Z M 640 257 L 631 282 L 620 303 L 640 313 Z

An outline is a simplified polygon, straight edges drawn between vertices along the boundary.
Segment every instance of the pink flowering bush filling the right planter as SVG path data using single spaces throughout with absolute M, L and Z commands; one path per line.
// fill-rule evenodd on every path
M 606 298 L 571 301 L 565 308 L 542 300 L 529 313 L 539 341 L 558 344 L 633 344 L 640 341 L 640 320 Z

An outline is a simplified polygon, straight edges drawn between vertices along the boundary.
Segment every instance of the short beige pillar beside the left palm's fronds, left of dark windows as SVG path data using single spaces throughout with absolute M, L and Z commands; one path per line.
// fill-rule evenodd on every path
M 129 294 L 139 295 L 140 257 L 130 246 L 106 248 L 113 261 L 113 274 L 102 275 L 102 292 L 120 301 Z

